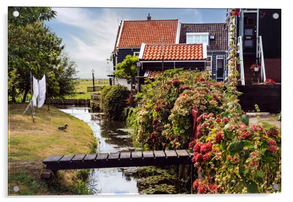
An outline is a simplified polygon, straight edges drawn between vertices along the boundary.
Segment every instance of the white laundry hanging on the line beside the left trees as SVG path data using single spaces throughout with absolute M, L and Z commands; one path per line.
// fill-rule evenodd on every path
M 45 74 L 41 80 L 37 80 L 33 76 L 33 105 L 40 108 L 43 106 L 46 99 L 46 77 Z

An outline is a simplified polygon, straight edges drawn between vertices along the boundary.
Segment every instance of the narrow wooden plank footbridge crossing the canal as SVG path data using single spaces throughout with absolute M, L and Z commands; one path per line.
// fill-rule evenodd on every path
M 45 171 L 87 168 L 119 168 L 191 164 L 192 151 L 166 150 L 144 152 L 114 152 L 49 156 L 43 161 Z M 47 173 L 47 174 L 46 174 Z M 50 175 L 50 174 L 49 174 Z

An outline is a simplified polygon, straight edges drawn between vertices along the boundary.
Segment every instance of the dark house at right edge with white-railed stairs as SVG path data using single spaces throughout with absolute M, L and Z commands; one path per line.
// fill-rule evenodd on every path
M 239 12 L 234 23 L 241 60 L 238 64 L 240 84 L 261 83 L 267 78 L 281 83 L 281 9 L 239 9 Z M 228 26 L 229 13 L 228 9 Z M 253 64 L 260 69 L 251 70 Z

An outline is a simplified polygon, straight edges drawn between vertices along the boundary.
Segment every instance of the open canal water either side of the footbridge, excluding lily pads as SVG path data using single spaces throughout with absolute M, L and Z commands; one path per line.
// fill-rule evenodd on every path
M 133 151 L 132 138 L 124 122 L 94 120 L 95 113 L 88 107 L 67 107 L 60 109 L 86 122 L 98 140 L 97 152 Z M 69 124 L 70 130 L 70 124 Z M 97 194 L 138 194 L 136 180 L 125 172 L 136 172 L 137 168 L 92 169 L 90 183 Z

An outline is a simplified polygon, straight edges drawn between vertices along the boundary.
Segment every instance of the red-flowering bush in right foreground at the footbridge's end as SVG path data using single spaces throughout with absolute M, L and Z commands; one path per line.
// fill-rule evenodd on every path
M 272 193 L 280 185 L 279 130 L 243 121 L 224 113 L 198 118 L 200 138 L 189 144 L 204 176 L 193 183 L 196 193 Z

